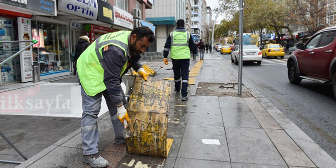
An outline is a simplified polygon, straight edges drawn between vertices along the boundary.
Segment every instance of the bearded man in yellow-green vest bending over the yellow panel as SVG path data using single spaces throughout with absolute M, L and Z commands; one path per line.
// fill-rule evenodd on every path
M 92 167 L 105 167 L 108 161 L 98 154 L 98 114 L 102 96 L 110 112 L 115 139 L 123 144 L 123 121 L 129 122 L 121 77 L 129 68 L 146 81 L 148 74 L 140 63 L 140 54 L 154 42 L 154 33 L 147 27 L 104 34 L 95 40 L 78 58 L 77 74 L 82 94 L 83 161 Z

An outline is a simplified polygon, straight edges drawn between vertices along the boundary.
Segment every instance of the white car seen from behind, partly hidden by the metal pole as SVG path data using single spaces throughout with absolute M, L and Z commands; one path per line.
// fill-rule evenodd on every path
M 231 54 L 231 62 L 238 65 L 239 60 L 239 46 L 235 47 L 235 51 Z M 247 44 L 243 46 L 243 62 L 257 62 L 261 64 L 261 51 L 256 45 Z

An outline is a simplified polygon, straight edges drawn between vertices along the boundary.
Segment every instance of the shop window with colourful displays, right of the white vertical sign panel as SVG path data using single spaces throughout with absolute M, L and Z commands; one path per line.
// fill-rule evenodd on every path
M 39 40 L 33 46 L 33 59 L 39 62 L 41 76 L 69 72 L 68 26 L 32 21 L 32 38 Z

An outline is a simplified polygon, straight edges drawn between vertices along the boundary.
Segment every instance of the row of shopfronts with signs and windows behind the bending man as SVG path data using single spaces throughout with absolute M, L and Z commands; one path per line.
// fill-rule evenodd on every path
M 145 22 L 145 9 L 152 5 L 153 0 L 0 0 L 0 41 L 39 40 L 1 67 L 0 85 L 32 81 L 33 63 L 39 65 L 42 80 L 70 75 L 69 54 L 80 36 L 87 35 L 93 42 L 102 34 L 134 27 L 153 30 Z M 134 18 L 133 9 L 139 13 Z M 0 47 L 0 61 L 16 52 L 10 45 Z

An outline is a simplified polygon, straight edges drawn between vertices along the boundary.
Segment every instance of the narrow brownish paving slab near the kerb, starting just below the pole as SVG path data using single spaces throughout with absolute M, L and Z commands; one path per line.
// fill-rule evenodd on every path
M 250 107 L 254 116 L 259 121 L 260 125 L 265 129 L 282 129 L 274 118 L 259 104 L 255 98 L 244 98 L 247 105 Z

